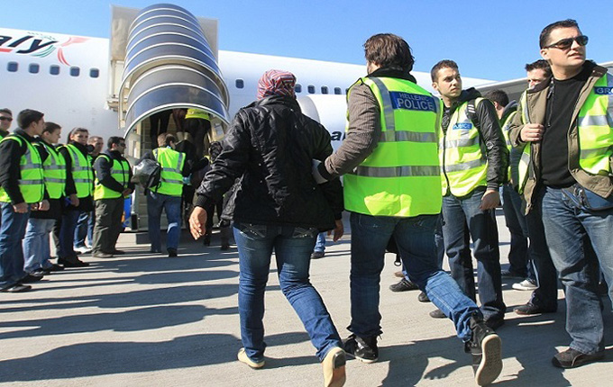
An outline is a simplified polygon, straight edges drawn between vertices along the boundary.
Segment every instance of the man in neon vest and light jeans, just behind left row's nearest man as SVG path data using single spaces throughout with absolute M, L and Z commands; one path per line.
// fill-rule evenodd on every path
M 63 266 L 50 262 L 50 232 L 61 218 L 61 207 L 66 188 L 64 157 L 54 147 L 59 143 L 61 127 L 55 122 L 45 122 L 41 136 L 35 139 L 34 147 L 41 155 L 42 172 L 47 193 L 49 211 L 32 211 L 23 238 L 23 270 L 32 275 L 47 275 L 63 270 Z

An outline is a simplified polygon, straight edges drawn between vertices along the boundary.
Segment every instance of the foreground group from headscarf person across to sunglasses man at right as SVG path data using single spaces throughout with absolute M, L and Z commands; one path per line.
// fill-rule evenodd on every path
M 500 91 L 482 98 L 463 90 L 453 60 L 432 68 L 435 97 L 411 76 L 407 42 L 374 35 L 364 44 L 367 76 L 348 91 L 347 137 L 334 154 L 325 128 L 300 112 L 296 77 L 266 72 L 257 101 L 236 114 L 189 220 L 194 238 L 206 235 L 206 208 L 241 178 L 233 212 L 238 359 L 265 365 L 264 290 L 274 251 L 281 291 L 316 347 L 325 386 L 343 385 L 346 355 L 376 362 L 380 274 L 393 240 L 407 281 L 453 321 L 476 383 L 493 382 L 502 370 L 496 329 L 506 312 L 494 212 L 500 190 L 512 255 L 523 255 L 505 275 L 530 279 L 526 259 L 535 266 L 535 292 L 516 312 L 555 311 L 559 278 L 572 342 L 553 365 L 602 359 L 599 273 L 613 298 L 613 75 L 585 59 L 587 42 L 573 20 L 546 26 L 544 60 L 526 67 L 529 87 L 509 103 Z M 352 228 L 352 334 L 344 340 L 308 276 L 321 231 L 343 235 L 343 210 Z

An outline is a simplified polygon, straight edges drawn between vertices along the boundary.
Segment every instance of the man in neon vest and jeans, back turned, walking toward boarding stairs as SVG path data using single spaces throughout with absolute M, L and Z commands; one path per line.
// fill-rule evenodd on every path
M 168 230 L 166 233 L 166 249 L 169 257 L 177 257 L 178 239 L 181 225 L 181 193 L 183 193 L 183 177 L 189 175 L 189 166 L 185 162 L 185 154 L 176 151 L 177 139 L 170 133 L 158 136 L 158 145 L 143 158 L 156 160 L 161 166 L 160 185 L 151 188 L 147 193 L 147 215 L 151 252 L 161 252 L 160 217 L 162 209 L 166 211 Z

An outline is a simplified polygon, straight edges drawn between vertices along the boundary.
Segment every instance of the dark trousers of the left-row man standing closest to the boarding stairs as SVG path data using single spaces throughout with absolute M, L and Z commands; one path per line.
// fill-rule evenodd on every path
M 122 232 L 124 198 L 96 200 L 96 226 L 92 253 L 113 254 Z

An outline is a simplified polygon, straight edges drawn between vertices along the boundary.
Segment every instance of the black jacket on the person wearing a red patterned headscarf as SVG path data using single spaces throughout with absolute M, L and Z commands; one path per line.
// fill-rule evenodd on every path
M 197 206 L 221 200 L 242 176 L 233 220 L 325 230 L 341 219 L 340 181 L 319 185 L 311 172 L 313 159 L 332 154 L 330 134 L 295 98 L 273 95 L 242 108 L 222 146 L 197 189 Z

